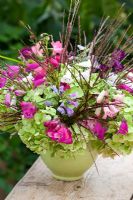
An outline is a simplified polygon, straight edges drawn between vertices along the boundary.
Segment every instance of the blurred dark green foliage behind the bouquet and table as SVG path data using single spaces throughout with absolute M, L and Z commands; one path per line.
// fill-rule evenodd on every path
M 30 25 L 37 35 L 48 32 L 54 35 L 55 40 L 59 39 L 63 13 L 64 10 L 68 12 L 69 3 L 70 0 L 0 0 L 0 54 L 14 57 L 21 47 L 28 44 L 29 35 L 21 21 Z M 79 11 L 81 28 L 85 30 L 88 40 L 101 18 L 113 17 L 123 3 L 126 4 L 122 16 L 126 16 L 133 11 L 132 0 L 82 0 Z M 133 15 L 128 18 L 126 26 L 132 23 Z M 9 133 L 0 135 L 0 200 L 37 158 L 17 136 L 13 139 L 9 136 Z

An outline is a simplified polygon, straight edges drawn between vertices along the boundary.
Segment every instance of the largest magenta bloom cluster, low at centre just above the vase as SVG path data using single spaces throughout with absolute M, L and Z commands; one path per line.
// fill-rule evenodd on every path
M 58 120 L 45 122 L 44 126 L 47 127 L 47 136 L 50 137 L 52 140 L 59 143 L 72 144 L 73 141 L 71 131 Z

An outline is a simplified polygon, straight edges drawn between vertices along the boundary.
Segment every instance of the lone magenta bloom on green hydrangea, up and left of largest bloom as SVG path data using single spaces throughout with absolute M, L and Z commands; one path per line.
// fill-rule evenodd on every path
M 20 103 L 22 113 L 24 118 L 31 119 L 37 112 L 37 108 L 31 102 L 21 102 Z

